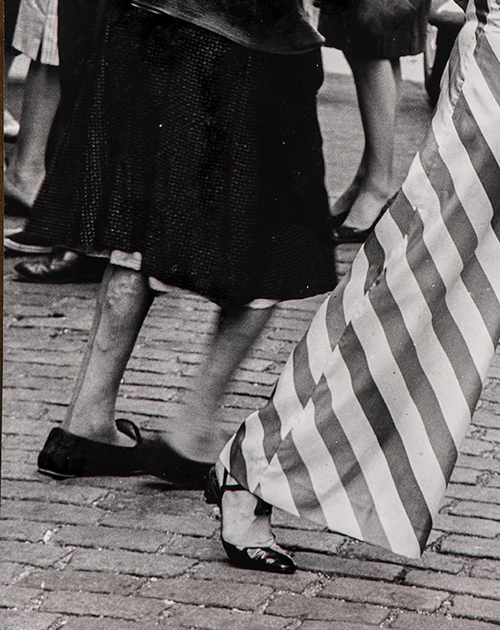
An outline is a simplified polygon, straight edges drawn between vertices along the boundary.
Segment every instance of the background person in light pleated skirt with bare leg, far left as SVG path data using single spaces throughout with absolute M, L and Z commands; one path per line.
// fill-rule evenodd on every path
M 21 0 L 12 22 L 7 5 L 6 26 L 12 31 L 11 47 L 25 54 L 30 69 L 25 81 L 20 132 L 4 174 L 7 213 L 27 216 L 45 176 L 45 147 L 59 103 L 59 51 L 57 48 L 57 0 Z M 10 33 L 8 33 L 10 36 Z M 6 55 L 6 68 L 13 54 Z M 13 235 L 6 246 L 23 253 L 46 253 L 45 244 L 30 243 Z

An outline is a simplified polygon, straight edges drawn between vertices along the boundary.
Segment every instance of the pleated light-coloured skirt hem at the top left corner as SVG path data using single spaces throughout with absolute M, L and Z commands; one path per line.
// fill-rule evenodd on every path
M 59 66 L 57 1 L 21 0 L 12 45 L 32 60 Z

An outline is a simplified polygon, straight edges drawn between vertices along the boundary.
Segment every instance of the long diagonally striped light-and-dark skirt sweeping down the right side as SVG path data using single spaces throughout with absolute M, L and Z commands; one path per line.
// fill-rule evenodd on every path
M 470 1 L 390 212 L 221 461 L 251 492 L 418 558 L 500 335 L 500 0 Z

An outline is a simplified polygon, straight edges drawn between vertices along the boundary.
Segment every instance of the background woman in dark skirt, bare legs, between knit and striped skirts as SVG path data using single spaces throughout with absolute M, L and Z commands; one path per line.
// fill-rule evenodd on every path
M 365 149 L 348 189 L 332 207 L 334 239 L 363 243 L 387 209 L 392 177 L 395 121 L 401 91 L 400 57 L 424 49 L 430 0 L 411 0 L 414 11 L 383 35 L 360 23 L 356 3 L 319 1 L 318 29 L 325 45 L 343 51 L 353 72 L 365 134 Z

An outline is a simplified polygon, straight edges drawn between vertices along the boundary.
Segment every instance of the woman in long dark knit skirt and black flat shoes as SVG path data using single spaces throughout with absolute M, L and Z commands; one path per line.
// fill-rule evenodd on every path
M 276 301 L 336 283 L 315 101 L 322 38 L 300 0 L 135 4 L 99 3 L 79 98 L 28 225 L 110 256 L 67 417 L 38 466 L 199 487 L 225 441 L 213 416 L 227 381 Z M 150 444 L 132 423 L 115 425 L 115 400 L 165 285 L 204 295 L 220 318 L 185 429 Z

